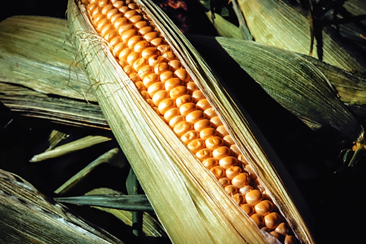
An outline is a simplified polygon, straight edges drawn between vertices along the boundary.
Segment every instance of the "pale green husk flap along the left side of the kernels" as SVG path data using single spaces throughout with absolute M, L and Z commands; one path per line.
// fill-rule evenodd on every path
M 198 193 L 200 189 L 196 187 L 198 184 L 193 179 L 181 177 L 181 174 L 188 173 L 181 161 L 196 162 L 199 167 L 197 159 L 155 112 L 150 111 L 150 107 L 142 99 L 134 84 L 117 67 L 112 54 L 106 52 L 107 46 L 102 46 L 103 50 L 97 45 L 103 41 L 96 38 L 87 17 L 82 14 L 85 12 L 83 6 L 77 7 L 74 2 L 69 4 L 68 20 L 71 35 L 79 36 L 73 39 L 80 52 L 90 54 L 82 55 L 85 72 L 91 76 L 95 93 L 101 98 L 98 102 L 107 121 L 170 238 L 182 243 L 214 243 L 223 242 L 225 237 L 228 237 L 227 240 L 240 243 L 241 236 L 233 227 L 230 228 L 230 222 L 225 220 L 222 212 L 217 213 L 211 210 L 211 207 L 207 207 L 215 206 L 215 203 L 212 200 L 207 203 L 204 202 L 205 199 L 193 199 L 196 196 L 201 197 Z M 99 48 L 90 48 L 93 44 Z M 165 136 L 162 137 L 161 134 Z M 180 169 L 176 166 L 179 164 Z M 206 173 L 206 177 L 214 182 L 211 175 Z M 223 193 L 221 195 L 225 197 Z M 166 199 L 166 202 L 162 199 Z M 209 229 L 205 226 L 205 218 L 215 223 Z M 206 223 L 208 224 L 207 219 Z M 221 240 L 220 236 L 209 233 L 219 231 L 220 227 L 225 236 Z M 259 239 L 259 242 L 263 241 Z

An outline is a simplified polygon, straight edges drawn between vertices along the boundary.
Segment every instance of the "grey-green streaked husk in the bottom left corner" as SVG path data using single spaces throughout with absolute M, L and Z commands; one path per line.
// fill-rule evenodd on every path
M 50 203 L 18 175 L 0 169 L 1 243 L 123 243 Z

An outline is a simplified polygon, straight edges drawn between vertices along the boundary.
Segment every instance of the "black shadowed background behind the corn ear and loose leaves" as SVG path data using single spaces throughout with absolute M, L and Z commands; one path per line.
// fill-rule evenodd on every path
M 217 33 L 205 16 L 204 8 L 197 1 L 181 1 L 186 4 L 186 8 L 178 9 L 163 0 L 155 2 L 166 11 L 206 58 L 229 92 L 250 114 L 275 149 L 300 189 L 305 199 L 304 203 L 311 210 L 315 222 L 309 227 L 313 230 L 316 240 L 319 243 L 357 242 L 364 226 L 356 223 L 366 217 L 362 211 L 363 201 L 360 200 L 365 192 L 364 164 L 344 168 L 338 158 L 342 149 L 352 147 L 352 141 L 331 128 L 310 130 L 266 95 L 245 72 L 231 63 L 229 57 L 225 59 L 227 62 L 222 62 L 217 57 L 218 52 L 207 50 L 200 41 L 202 39 L 192 35 L 216 36 Z M 67 1 L 64 0 L 20 0 L 1 3 L 0 20 L 14 15 L 66 18 Z M 231 16 L 230 19 L 236 23 L 234 17 Z M 245 80 L 246 86 L 238 85 L 235 82 L 238 79 Z M 253 100 L 248 94 L 256 94 L 256 99 Z M 22 117 L 0 104 L 0 168 L 19 174 L 50 197 L 53 197 L 53 191 L 60 184 L 78 170 L 108 149 L 117 146 L 113 140 L 56 160 L 30 164 L 28 160 L 33 155 L 48 147 L 47 138 L 52 129 L 71 135 L 63 143 L 89 134 L 111 135 L 109 131 L 66 127 L 41 119 Z M 68 194 L 81 195 L 96 187 L 110 187 L 126 193 L 124 180 L 127 172 L 128 166 L 119 169 L 101 165 Z M 127 243 L 141 241 L 133 237 L 129 227 L 110 215 L 89 207 L 70 207 Z M 148 241 L 160 243 L 168 240 Z

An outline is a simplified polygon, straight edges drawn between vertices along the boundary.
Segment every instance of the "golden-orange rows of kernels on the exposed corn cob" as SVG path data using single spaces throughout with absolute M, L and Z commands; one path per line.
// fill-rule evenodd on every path
M 259 228 L 285 243 L 291 230 L 222 121 L 154 24 L 130 1 L 92 0 L 90 21 L 144 100 L 172 128 Z

